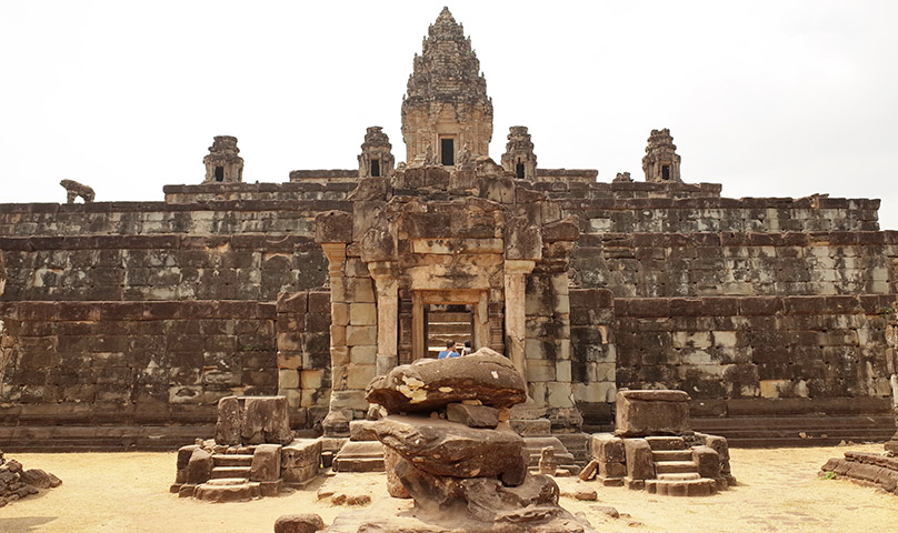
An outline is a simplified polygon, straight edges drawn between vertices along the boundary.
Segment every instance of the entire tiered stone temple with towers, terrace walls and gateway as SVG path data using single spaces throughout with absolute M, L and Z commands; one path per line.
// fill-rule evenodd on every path
M 667 129 L 645 180 L 540 168 L 522 125 L 491 158 L 448 10 L 401 117 L 405 161 L 371 127 L 358 167 L 247 183 L 222 135 L 164 201 L 0 204 L 0 447 L 173 449 L 232 395 L 343 436 L 372 379 L 447 340 L 507 356 L 518 418 L 572 451 L 620 389 L 685 391 L 692 426 L 735 445 L 895 432 L 898 233 L 878 200 L 724 198 Z

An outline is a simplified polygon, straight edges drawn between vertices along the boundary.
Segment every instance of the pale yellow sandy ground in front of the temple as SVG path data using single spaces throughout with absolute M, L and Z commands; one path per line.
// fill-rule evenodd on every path
M 898 532 L 898 496 L 849 481 L 818 479 L 827 459 L 847 447 L 732 450 L 739 485 L 710 497 L 652 496 L 595 482 L 559 477 L 562 492 L 596 489 L 598 502 L 562 497 L 599 531 L 628 532 Z M 850 450 L 879 452 L 881 445 Z M 168 487 L 174 453 L 8 454 L 26 469 L 57 474 L 63 484 L 0 507 L 0 533 L 273 531 L 289 513 L 315 512 L 329 524 L 347 506 L 319 501 L 325 485 L 348 494 L 369 493 L 371 505 L 406 505 L 386 493 L 382 474 L 321 476 L 307 489 L 247 503 L 212 504 L 178 499 Z M 629 516 L 610 519 L 593 509 L 611 505 Z M 356 507 L 359 509 L 359 507 Z

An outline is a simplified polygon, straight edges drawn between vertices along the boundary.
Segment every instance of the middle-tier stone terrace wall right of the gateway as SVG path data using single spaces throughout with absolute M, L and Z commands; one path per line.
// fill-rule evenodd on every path
M 896 292 L 892 231 L 602 233 L 578 244 L 573 279 L 618 298 Z

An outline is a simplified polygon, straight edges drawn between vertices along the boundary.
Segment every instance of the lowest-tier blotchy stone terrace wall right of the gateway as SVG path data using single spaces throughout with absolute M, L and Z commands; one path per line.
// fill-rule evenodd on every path
M 697 416 L 890 410 L 895 295 L 615 300 L 617 383 L 689 392 Z

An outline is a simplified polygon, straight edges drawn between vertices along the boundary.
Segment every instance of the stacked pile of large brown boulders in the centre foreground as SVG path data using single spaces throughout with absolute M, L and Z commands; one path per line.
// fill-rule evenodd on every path
M 523 439 L 508 424 L 526 384 L 502 355 L 481 349 L 397 366 L 369 384 L 367 398 L 389 413 L 372 426 L 388 491 L 415 505 L 343 513 L 327 531 L 593 531 L 558 505 L 550 476 L 528 472 Z

